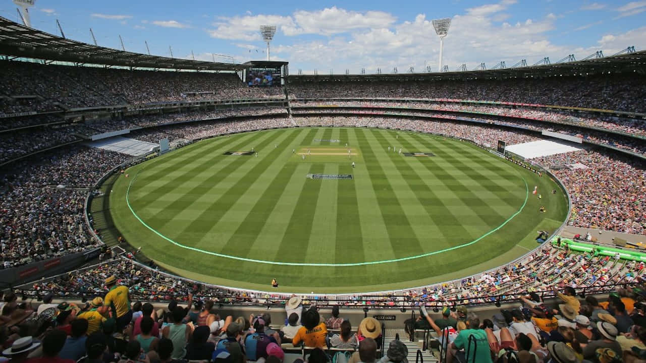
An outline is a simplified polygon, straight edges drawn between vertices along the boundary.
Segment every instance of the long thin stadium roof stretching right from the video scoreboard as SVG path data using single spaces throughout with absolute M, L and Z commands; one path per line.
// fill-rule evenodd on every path
M 598 74 L 601 72 L 640 72 L 641 75 L 644 75 L 646 74 L 646 50 L 587 59 L 583 61 L 553 63 L 547 65 L 528 65 L 525 67 L 433 73 L 298 74 L 289 76 L 289 81 L 440 81 L 444 79 L 505 79 L 515 77 L 544 78 L 554 76 L 584 76 L 586 74 Z

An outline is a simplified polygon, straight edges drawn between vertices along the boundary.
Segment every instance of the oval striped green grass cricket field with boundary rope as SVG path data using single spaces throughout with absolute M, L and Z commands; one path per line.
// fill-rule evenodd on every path
M 257 157 L 224 155 L 252 148 Z M 126 173 L 110 213 L 133 247 L 178 275 L 247 289 L 267 290 L 271 278 L 302 293 L 460 278 L 534 249 L 536 231 L 553 231 L 567 214 L 547 176 L 464 141 L 395 130 L 222 136 Z

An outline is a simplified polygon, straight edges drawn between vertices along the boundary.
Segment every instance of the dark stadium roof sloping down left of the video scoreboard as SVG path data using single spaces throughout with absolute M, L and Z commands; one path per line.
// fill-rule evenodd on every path
M 123 67 L 171 68 L 188 70 L 241 70 L 237 63 L 216 63 L 189 59 L 149 56 L 98 47 L 54 36 L 0 17 L 0 54 L 48 61 L 90 63 Z

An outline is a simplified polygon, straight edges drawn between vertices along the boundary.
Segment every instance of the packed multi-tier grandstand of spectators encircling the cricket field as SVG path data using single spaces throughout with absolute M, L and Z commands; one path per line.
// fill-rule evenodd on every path
M 112 65 L 101 63 L 105 48 L 84 43 L 56 59 L 56 37 L 42 32 L 43 46 L 25 47 L 34 40 L 17 35 L 23 28 L 0 18 L 9 39 L 0 42 L 1 331 L 12 362 L 400 363 L 418 348 L 442 362 L 646 358 L 645 245 L 632 242 L 646 243 L 646 52 L 477 77 L 286 74 L 282 87 L 247 87 L 234 64 L 49 64 L 90 54 Z M 174 68 L 154 58 L 130 65 Z M 492 151 L 500 141 L 577 140 L 557 154 L 503 151 L 563 186 L 568 218 L 490 271 L 391 291 L 293 294 L 166 271 L 99 205 L 104 183 L 156 158 L 160 140 L 178 152 L 297 127 L 408 130 Z M 568 227 L 586 233 L 566 238 Z

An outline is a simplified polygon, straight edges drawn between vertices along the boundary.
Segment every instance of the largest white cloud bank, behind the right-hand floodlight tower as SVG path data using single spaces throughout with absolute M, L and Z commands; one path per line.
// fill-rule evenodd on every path
M 481 62 L 493 67 L 505 61 L 510 66 L 520 59 L 534 63 L 539 58 L 561 56 L 571 50 L 548 39 L 548 32 L 556 27 L 554 14 L 510 21 L 507 14 L 514 3 L 500 1 L 453 16 L 444 41 L 444 64 L 450 70 L 463 63 L 470 69 Z M 500 19 L 507 21 L 501 24 Z M 295 23 L 297 28 L 302 28 L 300 23 Z M 272 50 L 272 54 L 300 67 L 326 72 L 329 68 L 335 72 L 345 68 L 351 68 L 351 72 L 359 72 L 360 68 L 366 68 L 367 72 L 375 72 L 377 68 L 390 72 L 393 67 L 404 72 L 411 66 L 420 72 L 426 65 L 437 70 L 438 53 L 439 39 L 425 14 L 390 26 L 350 29 L 323 40 L 276 44 Z

